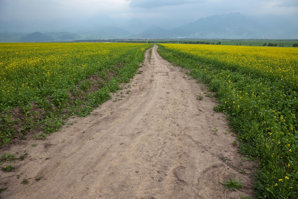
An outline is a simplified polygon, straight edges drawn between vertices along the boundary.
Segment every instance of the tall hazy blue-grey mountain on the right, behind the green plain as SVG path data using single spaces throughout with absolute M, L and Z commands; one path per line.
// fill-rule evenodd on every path
M 273 19 L 273 20 L 272 20 Z M 251 18 L 240 13 L 200 18 L 165 30 L 146 30 L 132 38 L 297 38 L 298 26 L 285 18 Z

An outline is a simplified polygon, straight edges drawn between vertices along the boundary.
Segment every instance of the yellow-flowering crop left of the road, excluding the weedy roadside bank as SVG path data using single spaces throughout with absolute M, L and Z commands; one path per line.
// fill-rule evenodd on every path
M 147 44 L 24 43 L 0 44 L 0 111 L 51 95 Z

